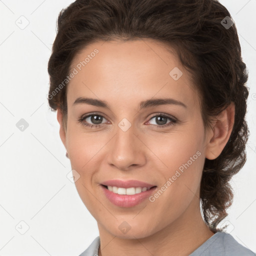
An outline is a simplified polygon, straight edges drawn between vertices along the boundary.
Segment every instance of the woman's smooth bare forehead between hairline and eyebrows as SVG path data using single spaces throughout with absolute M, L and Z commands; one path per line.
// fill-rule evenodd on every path
M 136 97 L 172 96 L 196 103 L 189 73 L 175 51 L 158 41 L 93 42 L 75 55 L 70 65 L 74 69 L 77 73 L 67 86 L 68 101 L 88 95 L 109 100 L 123 97 L 122 101 L 124 97 L 135 101 Z

